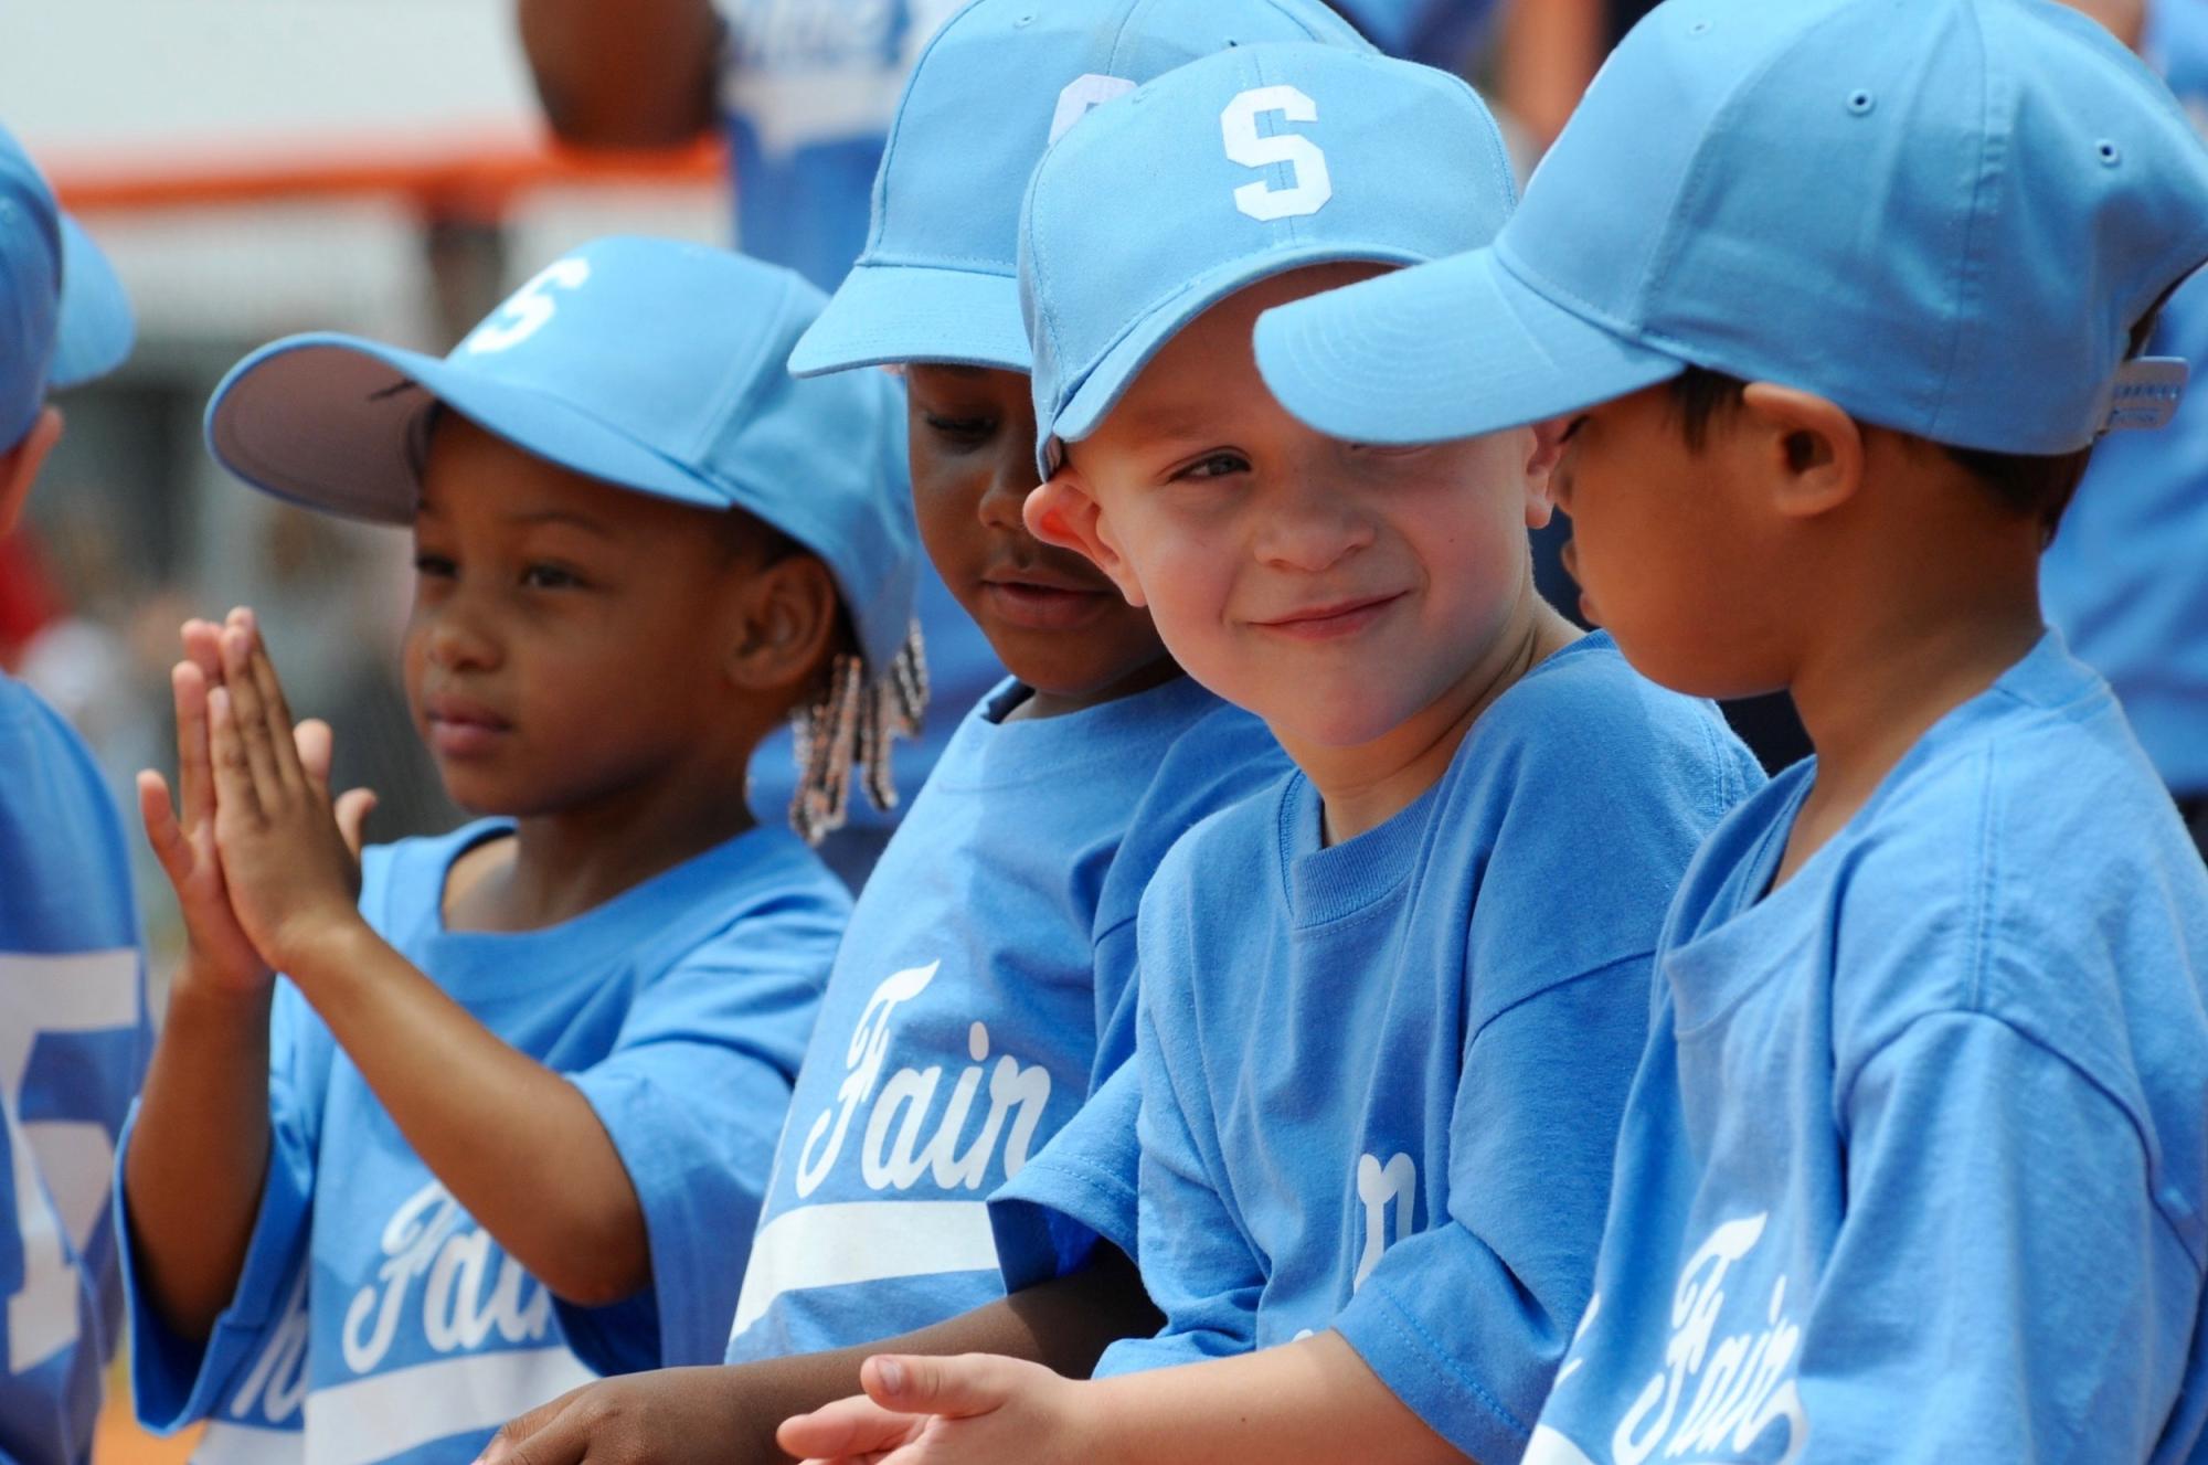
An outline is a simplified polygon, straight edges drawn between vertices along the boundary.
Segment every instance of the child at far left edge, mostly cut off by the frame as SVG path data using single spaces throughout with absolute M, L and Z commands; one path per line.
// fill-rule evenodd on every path
M 0 538 L 62 437 L 49 386 L 130 353 L 130 302 L 0 128 Z M 115 1346 L 113 1145 L 146 1070 L 130 860 L 84 741 L 0 673 L 0 1454 L 84 1465 Z

